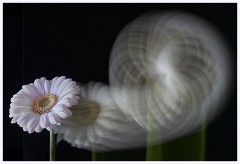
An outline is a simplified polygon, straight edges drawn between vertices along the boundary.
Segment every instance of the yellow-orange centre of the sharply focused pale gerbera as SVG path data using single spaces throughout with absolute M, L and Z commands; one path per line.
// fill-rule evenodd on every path
M 52 111 L 57 103 L 57 96 L 53 94 L 40 95 L 33 103 L 32 110 L 37 114 L 44 114 Z

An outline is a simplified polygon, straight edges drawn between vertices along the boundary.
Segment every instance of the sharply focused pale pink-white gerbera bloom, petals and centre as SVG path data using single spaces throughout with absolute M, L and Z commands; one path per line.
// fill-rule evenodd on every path
M 17 123 L 24 131 L 41 132 L 52 125 L 61 124 L 61 119 L 72 115 L 68 109 L 77 104 L 79 86 L 65 76 L 46 80 L 36 79 L 34 83 L 24 85 L 11 99 L 11 123 Z

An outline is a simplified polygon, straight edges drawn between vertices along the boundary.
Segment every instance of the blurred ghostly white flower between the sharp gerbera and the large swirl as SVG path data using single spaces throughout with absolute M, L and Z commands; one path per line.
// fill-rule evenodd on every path
M 116 106 L 110 88 L 90 82 L 80 86 L 78 105 L 70 108 L 72 117 L 53 130 L 72 146 L 88 150 L 110 151 L 145 144 L 144 130 L 128 120 Z

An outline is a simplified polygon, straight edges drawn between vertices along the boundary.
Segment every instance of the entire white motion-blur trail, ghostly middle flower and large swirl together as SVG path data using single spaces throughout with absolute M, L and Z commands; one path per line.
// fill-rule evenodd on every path
M 198 130 L 221 113 L 231 85 L 228 47 L 196 16 L 166 11 L 130 22 L 117 37 L 110 86 L 81 85 L 59 139 L 96 151 L 163 143 Z

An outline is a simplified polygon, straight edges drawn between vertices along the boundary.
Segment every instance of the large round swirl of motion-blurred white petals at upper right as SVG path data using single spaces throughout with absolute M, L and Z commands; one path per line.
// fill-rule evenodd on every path
M 197 16 L 144 14 L 112 48 L 113 98 L 155 134 L 153 144 L 189 134 L 221 113 L 231 85 L 229 53 L 216 29 Z

